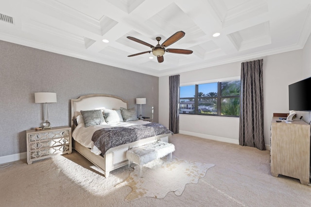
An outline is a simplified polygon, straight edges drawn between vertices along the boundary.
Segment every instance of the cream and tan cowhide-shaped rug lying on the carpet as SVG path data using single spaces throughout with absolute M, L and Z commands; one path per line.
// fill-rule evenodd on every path
M 116 187 L 129 186 L 132 191 L 126 196 L 126 201 L 142 197 L 164 198 L 170 191 L 181 195 L 188 183 L 198 183 L 207 170 L 214 164 L 205 164 L 173 158 L 168 156 L 156 159 L 146 164 L 142 169 L 135 166 L 128 178 Z

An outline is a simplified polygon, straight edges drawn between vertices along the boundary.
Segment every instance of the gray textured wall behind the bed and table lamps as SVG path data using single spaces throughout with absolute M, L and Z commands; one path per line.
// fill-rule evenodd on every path
M 146 97 L 142 114 L 158 121 L 158 77 L 3 41 L 0 54 L 0 157 L 26 152 L 26 130 L 44 121 L 35 92 L 57 94 L 52 127 L 70 125 L 70 99 L 86 94 L 120 96 L 138 114 L 135 98 Z

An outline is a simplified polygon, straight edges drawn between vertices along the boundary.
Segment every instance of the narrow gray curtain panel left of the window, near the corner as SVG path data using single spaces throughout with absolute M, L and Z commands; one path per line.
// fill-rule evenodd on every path
M 170 86 L 170 126 L 169 129 L 179 132 L 179 75 L 169 77 Z

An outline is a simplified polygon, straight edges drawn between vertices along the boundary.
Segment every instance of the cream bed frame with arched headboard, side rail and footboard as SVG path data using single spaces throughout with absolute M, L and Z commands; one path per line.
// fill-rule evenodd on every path
M 71 99 L 71 128 L 75 128 L 73 120 L 81 115 L 80 111 L 94 110 L 94 109 L 112 109 L 117 110 L 123 107 L 127 109 L 127 101 L 118 96 L 105 94 L 91 94 L 80 96 L 77 99 Z M 83 155 L 86 159 L 91 161 L 97 167 L 104 171 L 104 176 L 108 177 L 109 172 L 128 164 L 126 159 L 126 151 L 132 146 L 141 146 L 154 140 L 160 140 L 170 143 L 171 134 L 163 134 L 147 139 L 139 140 L 134 143 L 123 144 L 109 149 L 104 156 L 95 155 L 90 148 L 72 140 L 72 148 Z

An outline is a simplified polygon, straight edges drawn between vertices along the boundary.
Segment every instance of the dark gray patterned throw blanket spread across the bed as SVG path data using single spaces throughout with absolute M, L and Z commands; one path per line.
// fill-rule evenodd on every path
M 133 143 L 160 134 L 173 134 L 168 128 L 158 123 L 131 127 L 102 128 L 94 132 L 92 141 L 103 155 L 112 147 Z

